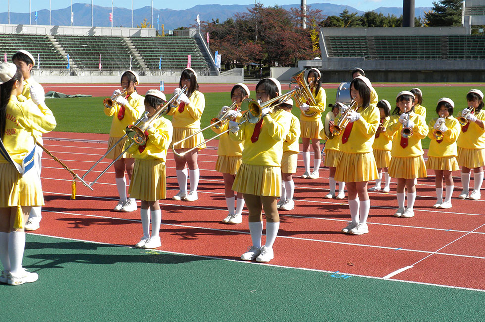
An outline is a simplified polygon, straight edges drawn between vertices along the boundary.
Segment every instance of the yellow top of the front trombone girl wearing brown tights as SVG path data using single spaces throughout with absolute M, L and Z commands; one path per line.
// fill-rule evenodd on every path
M 283 141 L 288 135 L 291 124 L 290 113 L 277 109 L 263 117 L 259 139 L 251 141 L 256 124 L 245 122 L 239 126 L 239 131 L 229 136 L 232 140 L 244 140 L 242 162 L 249 165 L 281 166 Z

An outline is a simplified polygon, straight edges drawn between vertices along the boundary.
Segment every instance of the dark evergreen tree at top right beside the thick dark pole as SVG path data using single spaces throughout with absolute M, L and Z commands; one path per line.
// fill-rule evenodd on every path
M 462 0 L 433 1 L 431 11 L 425 12 L 428 27 L 461 26 Z

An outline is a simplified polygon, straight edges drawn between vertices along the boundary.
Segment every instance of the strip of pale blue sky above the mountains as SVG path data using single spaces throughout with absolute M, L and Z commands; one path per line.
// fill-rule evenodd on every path
M 70 5 L 70 0 L 1 0 L 0 11 L 6 12 L 8 10 L 7 2 L 10 2 L 10 12 L 29 12 L 29 2 L 32 12 L 42 9 L 49 9 L 49 1 L 52 3 L 52 10 L 63 9 Z M 184 10 L 192 8 L 197 4 L 254 4 L 254 0 L 185 0 L 185 1 L 166 1 L 166 0 L 113 0 L 115 7 L 124 7 L 131 9 L 138 9 L 144 6 L 151 6 L 156 9 L 173 9 Z M 437 2 L 437 0 L 435 0 Z M 257 0 L 264 6 L 273 6 L 275 4 L 299 4 L 300 0 Z M 334 4 L 348 4 L 358 10 L 369 11 L 378 7 L 402 7 L 402 0 L 307 0 L 307 4 L 312 3 L 334 3 Z M 72 3 L 88 3 L 91 0 L 72 0 Z M 110 7 L 111 0 L 93 0 L 94 5 Z M 433 0 L 415 0 L 416 7 L 432 7 Z

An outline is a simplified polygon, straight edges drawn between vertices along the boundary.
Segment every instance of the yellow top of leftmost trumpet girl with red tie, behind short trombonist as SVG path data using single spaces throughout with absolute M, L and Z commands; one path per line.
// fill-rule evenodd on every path
M 131 107 L 125 106 L 125 116 L 122 120 L 118 119 L 118 112 L 121 108 L 120 104 L 113 102 L 114 104 L 111 108 L 104 107 L 104 114 L 113 117 L 109 136 L 120 138 L 125 135 L 126 127 L 135 123 L 135 121 L 145 112 L 145 104 L 143 103 L 144 99 L 145 98 L 139 95 L 136 91 L 131 93 L 127 98 Z

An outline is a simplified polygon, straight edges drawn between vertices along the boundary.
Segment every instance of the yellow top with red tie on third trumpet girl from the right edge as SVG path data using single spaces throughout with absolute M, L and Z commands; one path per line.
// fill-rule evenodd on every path
M 406 148 L 401 146 L 401 130 L 402 124 L 399 123 L 400 115 L 392 115 L 389 120 L 386 133 L 392 136 L 392 150 L 393 157 L 417 157 L 423 155 L 423 148 L 421 147 L 421 139 L 428 135 L 428 125 L 423 116 L 414 112 L 410 114 L 409 119 L 414 122 L 413 135 L 408 138 L 408 145 Z

